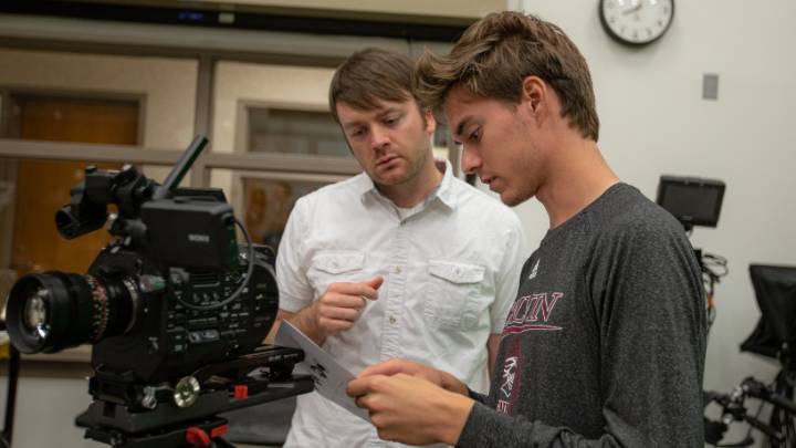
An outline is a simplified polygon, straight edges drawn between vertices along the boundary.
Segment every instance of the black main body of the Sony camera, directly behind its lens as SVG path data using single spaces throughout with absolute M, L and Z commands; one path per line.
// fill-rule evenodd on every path
M 242 251 L 241 259 L 244 256 Z M 212 306 L 232 294 L 244 278 L 245 264 L 197 272 L 148 265 L 139 254 L 114 251 L 114 247 L 103 250 L 88 274 L 98 282 L 134 290 L 138 298 L 132 301 L 129 330 L 95 343 L 94 371 L 106 377 L 156 383 L 253 352 L 274 322 L 279 299 L 272 252 L 255 248 L 252 262 L 253 274 L 238 299 L 213 310 L 191 310 L 176 299 Z

